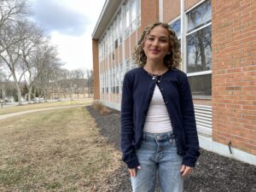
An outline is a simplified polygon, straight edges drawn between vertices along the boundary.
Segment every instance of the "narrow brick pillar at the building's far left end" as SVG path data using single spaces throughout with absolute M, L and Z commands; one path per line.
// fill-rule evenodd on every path
M 92 40 L 92 55 L 93 55 L 93 88 L 94 99 L 100 99 L 100 71 L 99 71 L 99 51 L 98 40 Z

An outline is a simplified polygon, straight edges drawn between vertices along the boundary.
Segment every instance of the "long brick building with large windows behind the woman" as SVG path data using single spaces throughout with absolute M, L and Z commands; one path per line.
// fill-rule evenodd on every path
M 181 42 L 202 148 L 256 165 L 256 1 L 110 0 L 92 34 L 94 98 L 120 109 L 122 79 L 145 26 Z

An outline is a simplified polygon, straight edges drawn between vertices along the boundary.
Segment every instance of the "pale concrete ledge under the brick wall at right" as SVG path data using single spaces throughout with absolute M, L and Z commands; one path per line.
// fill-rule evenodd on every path
M 230 149 L 228 145 L 213 142 L 212 137 L 199 135 L 199 144 L 201 148 L 204 148 L 207 151 L 212 151 L 216 154 L 221 154 L 226 157 L 230 157 L 235 160 L 241 160 L 243 162 L 256 166 L 256 155 L 248 154 L 244 151 L 232 147 L 232 154 L 230 154 Z

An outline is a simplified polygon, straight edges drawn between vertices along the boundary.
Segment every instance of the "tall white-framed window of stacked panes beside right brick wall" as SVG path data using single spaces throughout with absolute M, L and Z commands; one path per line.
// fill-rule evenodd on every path
M 207 0 L 187 14 L 186 73 L 193 96 L 212 95 L 212 7 Z

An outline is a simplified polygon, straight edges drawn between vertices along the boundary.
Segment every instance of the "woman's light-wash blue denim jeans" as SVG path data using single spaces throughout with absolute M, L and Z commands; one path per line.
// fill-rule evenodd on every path
M 183 191 L 182 156 L 177 154 L 172 132 L 144 132 L 142 146 L 136 153 L 141 169 L 137 169 L 137 177 L 131 177 L 133 192 L 154 192 L 157 173 L 161 192 Z

